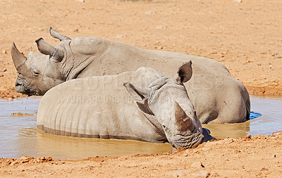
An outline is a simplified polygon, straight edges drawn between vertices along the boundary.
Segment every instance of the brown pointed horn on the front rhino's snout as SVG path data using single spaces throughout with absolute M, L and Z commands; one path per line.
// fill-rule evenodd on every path
M 179 131 L 193 131 L 195 126 L 192 122 L 192 119 L 188 117 L 185 111 L 180 107 L 178 102 L 174 102 L 174 110 L 176 117 L 176 126 Z

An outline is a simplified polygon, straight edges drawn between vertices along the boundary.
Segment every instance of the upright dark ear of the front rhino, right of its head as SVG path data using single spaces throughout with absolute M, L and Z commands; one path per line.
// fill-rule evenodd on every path
M 176 76 L 174 76 L 174 79 L 178 83 L 185 83 L 189 81 L 191 77 L 192 77 L 192 61 L 189 61 L 179 67 Z

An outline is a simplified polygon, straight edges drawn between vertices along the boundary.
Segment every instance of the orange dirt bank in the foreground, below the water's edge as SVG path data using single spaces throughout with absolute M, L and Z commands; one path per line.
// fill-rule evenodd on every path
M 282 136 L 226 138 L 175 154 L 51 160 L 0 159 L 13 177 L 279 177 Z

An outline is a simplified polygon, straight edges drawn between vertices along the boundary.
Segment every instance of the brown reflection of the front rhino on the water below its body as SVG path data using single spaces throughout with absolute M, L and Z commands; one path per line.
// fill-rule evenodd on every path
M 123 156 L 165 153 L 171 150 L 168 143 L 146 143 L 114 139 L 72 138 L 55 136 L 37 129 L 36 149 L 39 155 L 75 159 L 99 156 Z

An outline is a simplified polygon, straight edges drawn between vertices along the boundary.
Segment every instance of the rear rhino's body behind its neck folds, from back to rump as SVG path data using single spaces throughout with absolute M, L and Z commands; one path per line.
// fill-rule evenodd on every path
M 123 42 L 107 40 L 107 43 L 104 53 L 96 57 L 78 78 L 117 74 L 135 70 L 140 66 L 152 67 L 171 78 L 180 64 L 191 60 L 193 74 L 190 81 L 185 83 L 185 87 L 202 123 L 214 119 L 219 119 L 219 122 L 238 122 L 248 116 L 247 113 L 243 116 L 240 114 L 240 117 L 231 114 L 221 116 L 219 113 L 238 113 L 238 110 L 242 113 L 250 110 L 250 99 L 245 86 L 233 78 L 226 66 L 218 61 L 178 52 L 141 49 Z M 226 105 L 227 102 L 229 104 Z

